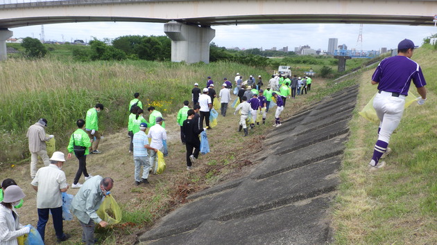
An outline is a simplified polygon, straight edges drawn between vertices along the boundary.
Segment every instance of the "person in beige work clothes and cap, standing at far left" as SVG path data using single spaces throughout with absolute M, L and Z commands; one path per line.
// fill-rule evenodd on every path
M 49 156 L 46 151 L 46 141 L 51 140 L 53 135 L 46 136 L 44 128 L 47 127 L 46 118 L 41 118 L 34 125 L 28 128 L 26 138 L 29 141 L 29 151 L 31 152 L 31 178 L 35 178 L 37 172 L 38 156 L 42 159 L 44 166 L 50 165 Z

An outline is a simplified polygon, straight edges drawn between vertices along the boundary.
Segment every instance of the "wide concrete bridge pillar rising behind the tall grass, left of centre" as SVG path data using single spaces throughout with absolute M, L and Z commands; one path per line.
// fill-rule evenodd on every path
M 172 62 L 209 63 L 209 42 L 216 35 L 211 27 L 189 26 L 178 21 L 164 24 L 164 33 L 171 39 Z

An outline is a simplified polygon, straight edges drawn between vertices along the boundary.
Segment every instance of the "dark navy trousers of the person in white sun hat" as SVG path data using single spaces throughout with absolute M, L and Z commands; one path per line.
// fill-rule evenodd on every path
M 53 216 L 53 226 L 55 227 L 56 237 L 62 239 L 63 237 L 65 237 L 62 227 L 62 206 L 59 208 L 38 208 L 38 233 L 40 233 L 42 241 L 44 241 L 46 224 L 47 221 L 49 221 L 49 211 Z

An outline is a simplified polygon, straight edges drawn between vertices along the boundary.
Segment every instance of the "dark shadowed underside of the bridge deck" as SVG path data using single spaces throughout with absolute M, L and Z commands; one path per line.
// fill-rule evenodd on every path
M 143 17 L 96 17 L 96 16 L 53 16 L 0 19 L 0 28 L 15 28 L 42 24 L 78 22 L 153 22 L 167 23 L 171 20 L 198 26 L 221 26 L 239 24 L 394 24 L 408 26 L 434 26 L 428 16 L 377 16 L 377 15 L 250 15 L 238 17 L 201 17 L 184 19 L 154 19 Z

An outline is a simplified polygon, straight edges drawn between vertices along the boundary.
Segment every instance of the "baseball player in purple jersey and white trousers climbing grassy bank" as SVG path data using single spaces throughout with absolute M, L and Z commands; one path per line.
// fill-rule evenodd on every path
M 389 154 L 388 148 L 390 136 L 399 125 L 404 113 L 405 97 L 408 96 L 411 80 L 417 88 L 420 97 L 418 104 L 425 104 L 427 90 L 425 89 L 425 78 L 419 64 L 410 60 L 413 56 L 414 43 L 409 39 L 402 40 L 397 45 L 397 55 L 388 57 L 379 63 L 375 73 L 372 75 L 372 84 L 378 84 L 378 93 L 373 100 L 373 107 L 379 118 L 378 140 L 373 150 L 370 170 L 377 170 L 384 167 L 384 161 L 379 159 L 384 153 Z

